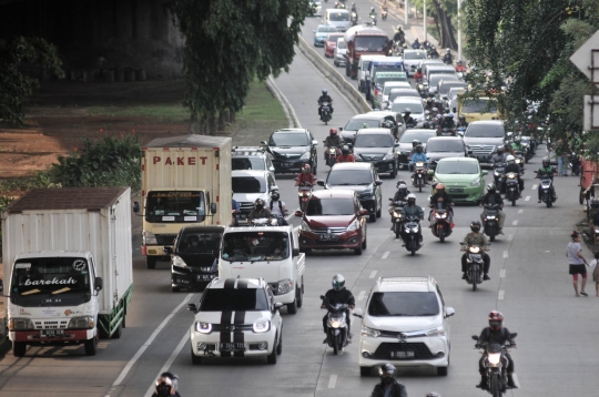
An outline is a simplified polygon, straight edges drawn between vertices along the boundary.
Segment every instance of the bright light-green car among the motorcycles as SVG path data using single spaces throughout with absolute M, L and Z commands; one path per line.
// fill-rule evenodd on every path
M 480 170 L 480 164 L 476 159 L 441 159 L 435 171 L 429 170 L 428 174 L 434 175 L 434 183 L 440 182 L 445 185 L 445 191 L 455 203 L 478 204 L 485 194 L 485 175 L 488 171 Z

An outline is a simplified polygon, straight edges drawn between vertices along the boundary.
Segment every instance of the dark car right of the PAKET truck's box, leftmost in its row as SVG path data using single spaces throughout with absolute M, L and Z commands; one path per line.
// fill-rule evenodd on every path
M 306 163 L 312 167 L 312 173 L 316 174 L 317 144 L 318 141 L 306 129 L 276 130 L 268 142 L 262 141 L 262 145 L 273 155 L 275 172 L 282 174 L 298 173 Z

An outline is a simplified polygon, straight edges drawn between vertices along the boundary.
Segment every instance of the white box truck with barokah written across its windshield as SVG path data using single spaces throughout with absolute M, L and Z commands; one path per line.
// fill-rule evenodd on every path
M 35 189 L 2 212 L 14 356 L 27 345 L 119 338 L 133 293 L 131 190 Z

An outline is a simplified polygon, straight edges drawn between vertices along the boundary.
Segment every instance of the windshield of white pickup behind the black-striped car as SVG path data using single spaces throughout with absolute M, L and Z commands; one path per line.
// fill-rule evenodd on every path
M 284 232 L 227 233 L 222 258 L 229 262 L 283 261 L 290 256 L 290 240 Z

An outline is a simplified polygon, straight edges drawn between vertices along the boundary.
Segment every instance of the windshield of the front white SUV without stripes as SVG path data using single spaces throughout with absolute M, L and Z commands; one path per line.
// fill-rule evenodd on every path
M 437 295 L 429 292 L 374 293 L 368 305 L 368 315 L 374 317 L 415 317 L 438 314 Z

